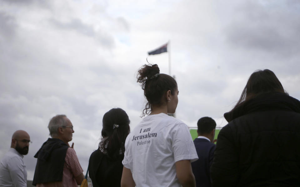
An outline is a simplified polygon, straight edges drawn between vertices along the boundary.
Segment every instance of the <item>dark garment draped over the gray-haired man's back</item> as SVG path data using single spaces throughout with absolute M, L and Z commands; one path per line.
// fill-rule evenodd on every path
M 34 155 L 37 158 L 32 185 L 63 180 L 63 165 L 68 145 L 57 138 L 48 138 Z

